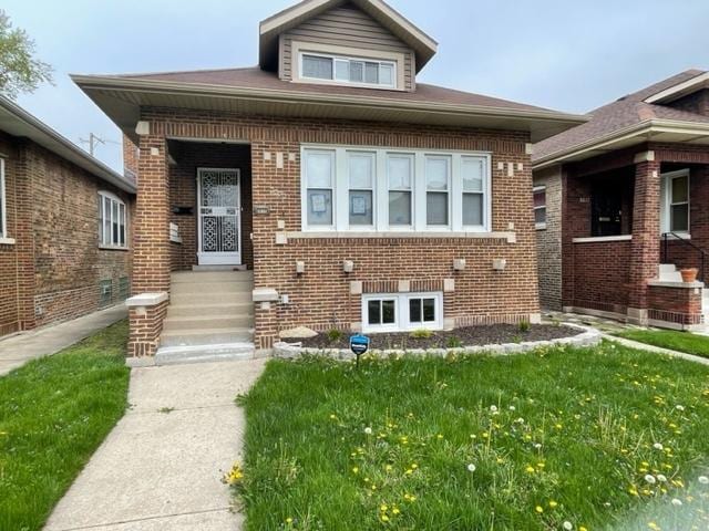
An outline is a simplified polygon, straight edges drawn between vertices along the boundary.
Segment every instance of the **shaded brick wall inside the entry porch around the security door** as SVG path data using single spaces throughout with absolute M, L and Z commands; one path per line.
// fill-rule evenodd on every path
M 171 221 L 179 227 L 181 244 L 172 246 L 172 270 L 189 270 L 197 263 L 197 169 L 238 168 L 242 195 L 242 263 L 254 268 L 251 233 L 251 152 L 238 144 L 171 143 L 176 165 L 169 167 Z M 176 215 L 189 207 L 191 215 Z

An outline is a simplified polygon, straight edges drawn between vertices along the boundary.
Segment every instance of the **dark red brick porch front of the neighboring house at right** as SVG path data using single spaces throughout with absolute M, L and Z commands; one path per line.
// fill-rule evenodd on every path
M 644 154 L 651 153 L 646 156 Z M 636 155 L 640 154 L 636 159 Z M 649 159 L 647 159 L 649 158 Z M 686 288 L 648 287 L 658 278 L 662 257 L 660 229 L 660 176 L 690 170 L 691 242 L 709 249 L 709 150 L 681 144 L 646 144 L 586 159 L 576 164 L 535 171 L 535 184 L 557 175 L 562 183 L 562 238 L 537 238 L 540 271 L 554 270 L 554 248 L 562 259 L 562 303 L 567 309 L 613 313 L 646 324 L 698 324 L 701 294 L 690 296 Z M 621 241 L 575 242 L 592 236 L 594 186 L 610 178 L 621 201 Z M 630 186 L 628 190 L 625 187 Z M 629 200 L 627 199 L 629 197 Z M 554 200 L 547 194 L 547 202 Z M 548 207 L 547 207 L 548 208 Z M 669 241 L 667 262 L 700 267 L 700 253 L 679 241 Z M 709 267 L 709 264 L 707 264 Z M 540 275 L 542 278 L 542 274 Z M 554 289 L 553 284 L 552 290 Z M 542 300 L 553 296 L 542 284 Z

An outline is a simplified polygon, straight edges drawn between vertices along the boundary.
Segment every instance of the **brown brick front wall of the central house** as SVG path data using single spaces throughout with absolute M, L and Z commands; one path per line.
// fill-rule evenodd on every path
M 257 288 L 274 288 L 291 295 L 291 304 L 274 304 L 268 311 L 257 309 L 258 346 L 268 346 L 274 327 L 294 325 L 330 326 L 361 321 L 359 298 L 349 295 L 350 281 L 389 280 L 425 281 L 442 285 L 455 279 L 455 292 L 446 294 L 445 317 L 465 320 L 518 320 L 538 312 L 537 269 L 532 215 L 532 174 L 525 154 L 528 135 L 514 132 L 443 128 L 404 124 L 339 121 L 247 117 L 225 113 L 144 108 L 142 119 L 151 123 L 148 136 L 141 137 L 138 184 L 138 223 L 141 248 L 136 247 L 135 278 L 141 291 L 161 291 L 169 271 L 167 247 L 161 242 L 168 221 L 158 196 L 166 194 L 168 170 L 164 138 L 215 138 L 250 143 L 253 202 L 268 207 L 268 214 L 254 216 L 254 269 Z M 401 148 L 486 150 L 492 153 L 494 231 L 514 227 L 516 242 L 501 239 L 393 238 L 393 239 L 312 239 L 290 238 L 276 244 L 279 220 L 286 232 L 300 231 L 300 146 L 323 143 Z M 150 148 L 156 148 L 151 155 Z M 265 160 L 264 153 L 285 154 L 282 169 L 276 157 Z M 288 158 L 292 155 L 295 159 Z M 151 157 L 146 160 L 145 157 Z M 523 169 L 508 176 L 497 163 L 522 164 Z M 194 175 L 194 174 L 193 174 Z M 147 179 L 147 183 L 146 180 Z M 147 220 L 141 201 L 157 211 Z M 163 214 L 165 212 L 165 214 Z M 147 251 L 152 250 L 150 260 Z M 141 253 L 145 257 L 141 258 Z M 350 275 L 341 271 L 342 260 L 356 262 Z M 453 258 L 466 258 L 465 271 L 453 272 Z M 507 268 L 492 271 L 492 259 L 504 258 Z M 306 261 L 306 274 L 297 278 L 295 261 Z M 452 303 L 449 303 L 452 301 Z

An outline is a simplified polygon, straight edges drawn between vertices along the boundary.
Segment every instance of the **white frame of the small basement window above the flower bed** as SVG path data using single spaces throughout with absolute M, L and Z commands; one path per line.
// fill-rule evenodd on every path
M 434 320 L 423 321 L 423 303 L 420 306 L 421 321 L 412 322 L 410 314 L 410 301 L 432 299 L 434 308 Z M 393 301 L 394 320 L 393 323 L 371 324 L 369 322 L 369 303 L 372 301 Z M 381 308 L 381 306 L 380 306 Z M 443 293 L 417 292 L 417 293 L 368 293 L 362 295 L 362 332 L 407 332 L 412 330 L 442 330 L 443 329 Z M 380 309 L 381 312 L 381 309 Z M 381 321 L 381 313 L 380 313 Z

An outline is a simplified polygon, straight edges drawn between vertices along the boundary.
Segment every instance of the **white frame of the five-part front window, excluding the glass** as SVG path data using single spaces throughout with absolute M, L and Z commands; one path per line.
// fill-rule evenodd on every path
M 331 160 L 332 219 L 328 225 L 310 225 L 308 215 L 311 207 L 309 190 L 317 190 L 310 186 L 308 176 L 309 154 L 329 154 Z M 372 225 L 350 223 L 350 154 L 367 154 L 373 157 L 372 176 Z M 393 157 L 409 157 L 411 160 L 411 225 L 391 225 L 389 218 L 390 188 L 389 162 Z M 480 191 L 464 189 L 464 160 L 474 158 L 482 166 L 482 184 Z M 427 162 L 448 160 L 446 190 L 429 188 L 427 179 Z M 491 154 L 484 152 L 455 152 L 435 149 L 401 149 L 401 148 L 368 148 L 362 146 L 332 146 L 308 144 L 301 146 L 301 223 L 304 232 L 479 232 L 489 233 L 492 229 L 492 165 Z M 446 194 L 448 222 L 445 225 L 428 223 L 429 194 Z M 482 225 L 464 225 L 463 201 L 465 194 L 482 195 Z M 318 205 L 322 202 L 319 199 Z M 320 206 L 319 208 L 323 208 Z

